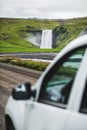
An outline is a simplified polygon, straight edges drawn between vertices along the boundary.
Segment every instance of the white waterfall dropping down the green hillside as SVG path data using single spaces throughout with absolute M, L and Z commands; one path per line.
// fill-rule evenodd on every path
M 52 48 L 52 30 L 43 30 L 40 48 Z

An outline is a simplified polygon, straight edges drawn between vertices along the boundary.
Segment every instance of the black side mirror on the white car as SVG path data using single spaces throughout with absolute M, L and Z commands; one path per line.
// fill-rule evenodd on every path
M 15 100 L 26 100 L 30 99 L 30 97 L 35 97 L 36 91 L 31 90 L 31 84 L 30 83 L 24 83 L 12 91 L 12 96 Z

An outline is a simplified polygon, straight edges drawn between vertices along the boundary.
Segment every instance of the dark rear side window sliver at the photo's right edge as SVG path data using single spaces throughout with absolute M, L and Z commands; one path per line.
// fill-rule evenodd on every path
M 87 114 L 87 81 L 86 81 L 85 89 L 84 89 L 84 92 L 83 92 L 80 112 Z

